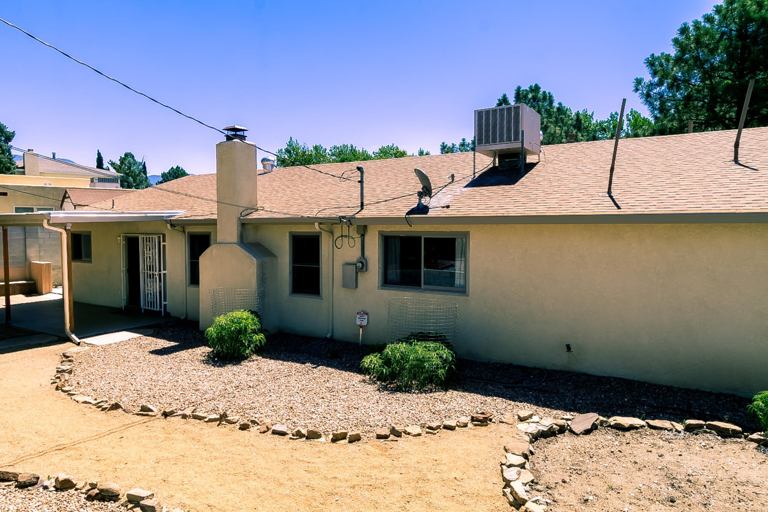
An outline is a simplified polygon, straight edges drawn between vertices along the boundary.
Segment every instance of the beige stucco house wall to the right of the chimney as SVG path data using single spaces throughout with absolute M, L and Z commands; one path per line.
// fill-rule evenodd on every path
M 359 245 L 334 249 L 334 338 L 356 341 L 355 313 L 364 309 L 364 340 L 383 342 L 390 297 L 434 297 L 458 303 L 462 357 L 741 395 L 768 389 L 768 226 L 403 227 L 369 226 L 370 270 L 358 289 L 341 287 L 341 264 L 355 261 Z M 252 225 L 247 238 L 277 256 L 281 329 L 320 336 L 328 330 L 329 237 L 323 297 L 291 296 L 289 233 L 301 230 L 314 232 Z M 379 230 L 468 233 L 468 293 L 381 289 Z

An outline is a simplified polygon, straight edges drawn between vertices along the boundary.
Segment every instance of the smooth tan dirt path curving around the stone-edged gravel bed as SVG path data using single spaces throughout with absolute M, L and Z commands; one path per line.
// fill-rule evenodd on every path
M 71 346 L 0 354 L 0 468 L 143 487 L 193 512 L 509 509 L 498 471 L 506 425 L 330 444 L 104 413 L 49 384 Z

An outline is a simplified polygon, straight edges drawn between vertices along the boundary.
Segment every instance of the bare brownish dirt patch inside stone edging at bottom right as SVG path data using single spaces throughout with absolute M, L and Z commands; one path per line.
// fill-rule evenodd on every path
M 531 493 L 553 512 L 768 510 L 768 450 L 743 439 L 600 428 L 534 448 Z

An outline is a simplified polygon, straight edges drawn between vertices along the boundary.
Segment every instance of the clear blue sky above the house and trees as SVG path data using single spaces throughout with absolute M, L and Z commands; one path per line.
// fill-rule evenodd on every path
M 643 59 L 713 2 L 2 2 L 0 17 L 208 124 L 268 150 L 288 137 L 439 152 L 518 84 L 607 117 Z M 220 134 L 0 26 L 0 121 L 14 144 L 149 173 L 215 171 Z M 266 155 L 259 155 L 259 158 Z

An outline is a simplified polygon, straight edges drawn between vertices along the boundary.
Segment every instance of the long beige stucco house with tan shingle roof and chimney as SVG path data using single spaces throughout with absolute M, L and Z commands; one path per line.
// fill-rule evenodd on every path
M 460 357 L 751 395 L 768 388 L 768 128 L 743 131 L 740 165 L 734 138 L 621 140 L 612 197 L 613 140 L 544 147 L 522 178 L 479 153 L 257 174 L 255 148 L 228 140 L 217 174 L 24 221 L 72 223 L 82 302 L 204 329 L 217 290 L 253 290 L 270 332 L 357 342 L 366 311 L 375 343 L 390 298 L 442 299 Z M 415 167 L 428 213 L 412 210 Z M 349 279 L 363 241 L 367 272 Z

